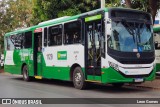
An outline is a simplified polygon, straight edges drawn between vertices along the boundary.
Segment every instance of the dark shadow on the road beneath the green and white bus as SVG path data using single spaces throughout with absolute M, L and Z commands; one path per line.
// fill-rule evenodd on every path
M 11 79 L 17 80 L 17 81 L 23 81 L 23 79 L 21 77 L 11 78 Z M 25 82 L 25 81 L 23 81 L 23 82 Z M 57 86 L 60 88 L 70 88 L 73 90 L 77 90 L 74 88 L 73 83 L 69 82 L 69 81 L 61 81 L 61 80 L 53 80 L 53 79 L 42 79 L 42 80 L 33 79 L 30 82 L 31 83 L 38 83 L 41 85 L 48 84 L 50 86 Z M 130 93 L 130 92 L 137 93 L 137 92 L 146 92 L 146 91 L 150 91 L 150 90 L 130 87 L 128 85 L 125 85 L 122 88 L 116 88 L 116 87 L 113 87 L 111 84 L 101 85 L 101 84 L 89 83 L 87 89 L 84 91 L 95 91 L 95 92 L 104 92 L 104 93 Z

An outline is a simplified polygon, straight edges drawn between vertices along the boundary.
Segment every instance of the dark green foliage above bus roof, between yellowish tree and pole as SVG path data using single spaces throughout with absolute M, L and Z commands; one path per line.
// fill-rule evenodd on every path
M 98 0 L 33 0 L 33 18 L 35 24 L 62 16 L 71 16 L 97 9 Z

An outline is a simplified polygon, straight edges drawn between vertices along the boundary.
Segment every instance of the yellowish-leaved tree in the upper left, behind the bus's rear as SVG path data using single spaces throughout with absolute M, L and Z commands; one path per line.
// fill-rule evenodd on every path
M 0 45 L 2 48 L 5 33 L 32 25 L 32 4 L 32 0 L 0 0 Z

